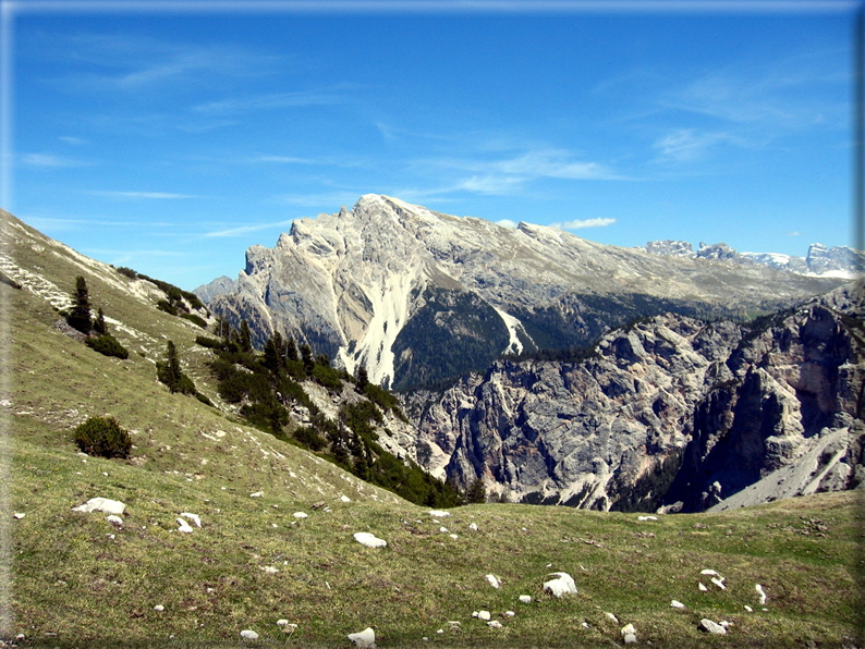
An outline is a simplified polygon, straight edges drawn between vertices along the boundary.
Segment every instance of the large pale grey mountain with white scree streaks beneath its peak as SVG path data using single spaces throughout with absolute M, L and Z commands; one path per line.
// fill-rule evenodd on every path
M 253 246 L 234 290 L 196 292 L 216 313 L 308 342 L 395 388 L 483 369 L 507 352 L 568 348 L 634 317 L 742 316 L 824 293 L 839 280 L 730 264 L 727 246 L 659 257 L 558 230 L 515 229 L 366 195 Z M 739 257 L 736 257 L 739 258 Z

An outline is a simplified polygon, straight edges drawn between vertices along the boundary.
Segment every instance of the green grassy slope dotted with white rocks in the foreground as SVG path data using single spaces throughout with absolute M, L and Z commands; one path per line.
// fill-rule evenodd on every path
M 381 648 L 613 647 L 629 624 L 638 646 L 861 646 L 856 493 L 657 519 L 430 512 L 170 393 L 156 379 L 167 340 L 216 395 L 200 328 L 160 310 L 151 283 L 0 216 L 0 647 L 348 648 L 367 627 Z M 127 359 L 57 327 L 76 275 Z M 129 431 L 129 457 L 78 451 L 90 417 Z M 125 509 L 76 511 L 94 498 Z M 556 572 L 578 593 L 545 593 Z

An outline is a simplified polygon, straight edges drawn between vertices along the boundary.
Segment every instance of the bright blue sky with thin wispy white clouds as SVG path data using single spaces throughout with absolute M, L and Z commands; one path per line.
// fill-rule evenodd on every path
M 621 246 L 851 241 L 852 2 L 38 7 L 2 207 L 184 289 L 368 193 Z

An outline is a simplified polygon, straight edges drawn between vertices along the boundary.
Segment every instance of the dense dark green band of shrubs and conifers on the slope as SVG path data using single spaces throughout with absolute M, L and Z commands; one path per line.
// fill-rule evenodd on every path
M 354 377 L 334 368 L 326 354 L 314 354 L 305 343 L 299 348 L 294 339 L 283 338 L 278 331 L 258 353 L 253 348 L 246 320 L 235 330 L 218 319 L 214 329 L 220 338 L 199 335 L 196 342 L 215 354 L 210 369 L 220 397 L 239 405 L 241 416 L 249 424 L 416 504 L 449 507 L 465 502 L 466 495 L 451 483 L 378 443 L 376 428 L 386 424 L 385 413 L 391 412 L 402 420 L 405 416 L 390 392 L 369 382 L 364 368 Z M 333 395 L 351 384 L 365 399 L 342 403 L 334 421 L 309 399 L 303 381 L 314 381 Z M 308 413 L 308 421 L 292 429 L 290 407 L 302 415 Z

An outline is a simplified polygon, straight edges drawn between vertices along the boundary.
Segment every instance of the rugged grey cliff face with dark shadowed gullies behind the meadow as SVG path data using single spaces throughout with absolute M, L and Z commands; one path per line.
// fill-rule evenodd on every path
M 860 284 L 753 327 L 659 316 L 581 360 L 498 362 L 440 397 L 415 395 L 416 455 L 495 497 L 604 510 L 704 510 L 818 445 L 831 451 L 815 469 L 823 487 L 800 477 L 800 491 L 851 488 L 863 315 Z

